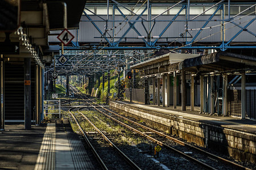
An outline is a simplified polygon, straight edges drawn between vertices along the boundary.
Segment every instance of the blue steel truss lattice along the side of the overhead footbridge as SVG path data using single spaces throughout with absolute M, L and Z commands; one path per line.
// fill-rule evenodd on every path
M 226 49 L 255 49 L 256 48 L 256 45 L 250 45 L 248 46 L 247 44 L 245 45 L 240 45 L 240 46 L 232 46 L 232 42 L 234 39 L 236 39 L 236 37 L 238 35 L 240 35 L 241 32 L 243 31 L 246 31 L 246 32 L 249 32 L 250 35 L 254 36 L 256 35 L 256 33 L 253 31 L 253 30 L 249 30 L 247 29 L 247 27 L 255 22 L 255 19 L 252 19 L 251 21 L 249 21 L 249 23 L 247 23 L 247 25 L 245 27 L 243 27 L 242 25 L 240 24 L 237 24 L 235 23 L 234 21 L 238 18 L 238 17 L 243 17 L 243 13 L 247 10 L 251 10 L 251 9 L 254 9 L 255 8 L 255 4 L 246 8 L 245 10 L 241 11 L 241 12 L 238 12 L 237 15 L 234 15 L 233 17 L 230 17 L 230 1 L 228 1 L 228 4 L 224 3 L 223 0 L 220 0 L 219 2 L 217 3 L 211 3 L 212 6 L 210 6 L 207 10 L 204 10 L 203 12 L 201 12 L 199 15 L 196 15 L 195 17 L 193 17 L 192 19 L 190 19 L 190 15 L 189 14 L 189 8 L 191 5 L 193 5 L 192 3 L 190 3 L 190 1 L 187 1 L 187 3 L 184 3 L 184 0 L 181 0 L 180 2 L 177 2 L 176 4 L 172 5 L 170 8 L 168 8 L 166 11 L 164 12 L 167 12 L 169 10 L 171 10 L 171 8 L 177 6 L 177 5 L 182 5 L 179 12 L 177 12 L 177 14 L 174 16 L 174 18 L 170 19 L 170 20 L 160 20 L 159 19 L 159 16 L 162 16 L 164 14 L 164 12 L 162 12 L 161 14 L 159 15 L 156 15 L 154 18 L 151 19 L 151 14 L 150 14 L 150 11 L 151 11 L 151 3 L 148 2 L 148 4 L 145 6 L 142 6 L 142 8 L 144 9 L 141 14 L 135 14 L 135 12 L 129 10 L 128 8 L 126 8 L 125 5 L 122 5 L 121 3 L 118 3 L 116 1 L 112 1 L 114 3 L 113 5 L 113 20 L 106 20 L 104 18 L 102 18 L 100 15 L 96 15 L 98 16 L 101 20 L 95 20 L 97 22 L 99 21 L 102 21 L 102 22 L 113 22 L 113 25 L 115 25 L 115 23 L 118 23 L 118 22 L 122 22 L 121 20 L 114 20 L 115 17 L 114 17 L 114 11 L 115 9 L 118 10 L 118 12 L 122 15 L 122 17 L 124 18 L 125 22 L 127 24 L 129 24 L 129 28 L 126 28 L 126 31 L 125 33 L 123 33 L 123 35 L 120 37 L 118 37 L 118 40 L 115 41 L 115 37 L 114 37 L 114 27 L 111 29 L 111 31 L 113 30 L 113 37 L 109 37 L 108 36 L 108 32 L 110 31 L 110 29 L 107 29 L 105 28 L 105 32 L 104 31 L 101 31 L 101 29 L 97 26 L 97 24 L 94 22 L 94 20 L 90 19 L 89 15 L 86 14 L 86 12 L 84 11 L 84 14 L 86 15 L 86 17 L 89 19 L 88 21 L 86 22 L 91 22 L 94 27 L 96 27 L 96 29 L 101 33 L 101 38 L 104 38 L 108 44 L 105 44 L 105 46 L 101 46 L 100 44 L 98 46 L 94 46 L 93 49 L 104 49 L 104 50 L 116 50 L 116 49 L 124 49 L 124 50 L 128 50 L 128 49 L 219 49 L 219 50 L 226 50 Z M 242 4 L 242 3 L 241 3 Z M 245 3 L 245 4 L 248 4 L 248 3 Z M 131 18 L 133 18 L 133 16 L 126 16 L 123 14 L 123 12 L 119 9 L 118 6 L 121 6 L 121 7 L 124 7 L 126 8 L 128 11 L 131 12 L 131 15 L 135 15 L 137 16 L 137 18 L 135 20 L 131 20 Z M 203 15 L 205 12 L 209 11 L 210 9 L 212 9 L 213 7 L 216 7 L 217 6 L 217 9 L 214 11 L 214 13 L 210 16 L 209 19 L 198 19 L 199 16 Z M 228 14 L 224 14 L 224 7 L 225 6 L 228 6 Z M 108 10 L 109 10 L 109 5 L 108 5 Z M 150 16 L 147 16 L 147 19 L 143 18 L 143 13 L 148 10 L 148 14 L 147 15 L 150 15 Z M 181 11 L 183 10 L 186 10 L 186 14 L 185 14 L 185 20 L 176 20 L 178 16 L 181 15 Z M 216 16 L 217 12 L 222 10 L 222 19 L 213 19 L 214 16 Z M 251 10 L 251 11 L 255 11 L 255 10 Z M 93 13 L 93 11 L 90 11 Z M 94 14 L 94 13 L 93 13 Z M 227 19 L 225 19 L 225 16 L 228 16 Z M 142 19 L 142 20 L 139 20 L 139 19 Z M 151 27 L 151 28 L 147 28 L 144 26 L 144 22 L 148 22 L 149 24 L 151 24 L 151 22 L 154 21 L 154 25 Z M 196 40 L 197 37 L 199 37 L 199 35 L 201 35 L 201 32 L 204 30 L 204 29 L 207 29 L 207 25 L 210 23 L 210 22 L 216 22 L 216 21 L 219 21 L 221 22 L 222 24 L 220 24 L 220 28 L 224 28 L 224 24 L 226 23 L 232 23 L 234 25 L 234 27 L 238 27 L 240 28 L 240 31 L 234 33 L 234 36 L 228 41 L 228 42 L 224 42 L 224 38 L 220 37 L 220 45 L 218 46 L 213 46 L 209 43 L 209 45 L 196 45 L 195 42 L 198 42 L 200 40 Z M 82 21 L 84 22 L 84 21 Z M 147 35 L 142 35 L 140 32 L 139 32 L 139 29 L 135 28 L 135 23 L 138 23 L 138 22 L 141 22 L 142 23 L 142 26 L 143 28 L 145 29 Z M 150 33 L 152 32 L 152 29 L 154 29 L 155 25 L 157 27 L 157 24 L 158 22 L 168 22 L 167 26 L 164 27 L 164 29 L 162 30 L 162 32 L 159 34 L 159 36 L 154 36 L 155 40 L 152 41 L 152 37 L 150 36 Z M 171 29 L 171 25 L 172 23 L 174 22 L 186 22 L 187 24 L 185 24 L 185 33 L 182 34 L 182 35 L 177 35 L 176 39 L 185 39 L 185 41 L 177 41 L 177 42 L 181 42 L 182 45 L 177 45 L 177 46 L 168 46 L 168 45 L 165 45 L 165 46 L 159 46 L 157 45 L 157 42 L 159 41 L 159 39 L 166 39 L 166 42 L 160 42 L 162 44 L 169 44 L 170 41 L 168 41 L 168 37 L 162 37 L 163 34 L 167 31 L 167 29 Z M 188 22 L 204 22 L 203 26 L 201 28 L 191 28 L 189 27 L 188 25 Z M 106 24 L 107 25 L 107 24 Z M 159 28 L 159 27 L 158 27 Z M 130 32 L 131 29 L 134 29 L 134 31 L 137 33 L 138 37 L 126 37 L 127 33 Z M 184 35 L 188 35 L 188 31 L 189 30 L 192 30 L 192 29 L 199 29 L 199 31 L 197 32 L 197 34 L 195 36 L 192 37 L 192 39 L 189 39 L 190 37 L 189 36 L 184 36 Z M 208 28 L 209 30 L 209 28 Z M 225 29 L 222 29 L 221 30 L 221 34 L 223 36 L 225 36 Z M 109 38 L 112 38 L 112 40 L 110 40 Z M 121 46 L 120 45 L 120 42 L 123 40 L 123 39 L 141 39 L 142 43 L 144 44 L 143 46 L 141 45 L 134 45 L 133 43 L 133 46 L 127 44 L 126 46 Z M 170 40 L 170 38 L 169 38 Z M 256 43 L 256 41 L 254 42 Z M 69 47 L 66 47 L 65 49 L 72 49 L 72 48 L 69 48 Z M 75 48 L 76 49 L 76 48 Z M 86 49 L 86 48 L 78 48 L 78 49 Z

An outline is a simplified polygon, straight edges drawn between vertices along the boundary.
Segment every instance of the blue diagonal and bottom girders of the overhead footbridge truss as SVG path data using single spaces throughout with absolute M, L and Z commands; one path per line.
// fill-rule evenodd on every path
M 256 18 L 250 20 L 249 23 L 247 23 L 245 25 L 245 27 L 242 27 L 234 22 L 232 22 L 232 19 L 233 18 L 230 18 L 230 13 L 228 13 L 228 19 L 224 19 L 224 10 L 222 10 L 222 23 L 224 22 L 230 22 L 234 25 L 236 25 L 238 28 L 240 28 L 241 30 L 238 31 L 229 41 L 224 41 L 224 24 L 222 24 L 222 40 L 220 41 L 221 42 L 221 45 L 220 46 L 211 46 L 211 45 L 205 45 L 205 46 L 193 46 L 193 42 L 195 42 L 196 38 L 200 35 L 201 31 L 203 30 L 203 28 L 205 28 L 207 26 L 207 24 L 212 21 L 212 18 L 214 15 L 216 15 L 216 13 L 221 10 L 221 9 L 224 9 L 224 3 L 220 3 L 218 4 L 218 7 L 217 9 L 214 11 L 214 13 L 210 16 L 210 18 L 208 20 L 204 20 L 205 23 L 204 25 L 201 27 L 201 29 L 199 29 L 199 31 L 196 33 L 196 35 L 192 38 L 191 41 L 188 41 L 186 40 L 185 42 L 185 45 L 183 46 L 158 46 L 156 45 L 156 42 L 162 37 L 162 35 L 164 34 L 164 32 L 166 32 L 166 30 L 170 27 L 170 25 L 175 22 L 175 19 L 177 18 L 177 16 L 180 15 L 180 12 L 184 9 L 186 9 L 188 12 L 186 12 L 186 21 L 189 22 L 189 21 L 192 21 L 193 19 L 189 19 L 189 6 L 190 6 L 190 2 L 188 1 L 188 4 L 183 4 L 180 11 L 177 12 L 177 14 L 174 16 L 174 18 L 167 24 L 167 26 L 163 29 L 163 31 L 159 34 L 158 38 L 156 38 L 154 41 L 151 41 L 151 38 L 149 39 L 149 41 L 146 41 L 144 38 L 142 38 L 142 41 L 144 42 L 144 46 L 119 46 L 119 43 L 125 39 L 127 33 L 131 30 L 131 29 L 134 29 L 134 31 L 138 34 L 138 36 L 142 36 L 141 33 L 139 33 L 138 29 L 135 28 L 135 23 L 139 22 L 139 19 L 142 17 L 143 13 L 147 10 L 150 10 L 151 9 L 151 5 L 148 5 L 147 7 L 144 8 L 144 10 L 141 12 L 141 14 L 137 15 L 137 19 L 135 19 L 133 22 L 131 22 L 130 20 L 128 20 L 126 18 L 126 16 L 123 14 L 123 12 L 121 10 L 119 10 L 119 8 L 117 7 L 117 5 L 113 5 L 113 20 L 114 20 L 114 11 L 115 9 L 117 9 L 120 14 L 123 16 L 123 18 L 125 19 L 125 21 L 129 24 L 129 28 L 126 30 L 125 33 L 123 33 L 123 35 L 118 38 L 119 40 L 115 41 L 115 38 L 114 38 L 114 32 L 113 32 L 113 37 L 112 37 L 112 40 L 110 40 L 106 34 L 108 33 L 108 30 L 105 30 L 105 32 L 102 32 L 101 29 L 97 26 L 96 23 L 94 23 L 94 21 L 90 18 L 90 16 L 88 14 L 86 14 L 86 12 L 84 11 L 84 14 L 85 16 L 89 19 L 89 21 L 94 25 L 94 27 L 97 29 L 98 32 L 100 32 L 101 34 L 101 37 L 104 38 L 106 40 L 106 42 L 108 42 L 108 45 L 102 47 L 102 46 L 94 46 L 93 49 L 104 49 L 104 50 L 118 50 L 118 49 L 219 49 L 219 50 L 222 50 L 222 51 L 225 51 L 226 49 L 256 49 L 256 46 L 247 46 L 247 45 L 240 45 L 240 46 L 230 46 L 230 42 L 232 42 L 234 39 L 236 39 L 236 37 L 238 35 L 240 35 L 241 32 L 243 31 L 247 31 L 249 32 L 252 36 L 256 36 L 256 33 L 254 32 L 251 32 L 249 30 L 247 30 L 247 27 L 253 23 Z M 230 1 L 228 3 L 228 7 L 230 8 Z M 230 12 L 230 10 L 228 10 Z M 203 13 L 202 13 L 203 14 Z M 96 14 L 95 14 L 96 15 Z M 201 15 L 201 14 L 200 14 Z M 199 15 L 198 15 L 199 16 Z M 99 16 L 100 17 L 100 16 Z M 100 17 L 101 18 L 101 17 Z M 102 20 L 104 20 L 103 18 L 101 18 Z M 193 21 L 198 21 L 198 20 L 193 20 Z M 106 20 L 106 22 L 108 22 Z M 143 21 L 141 21 L 143 22 Z M 147 22 L 151 22 L 151 19 L 148 19 Z M 155 23 L 154 23 L 155 24 Z M 113 22 L 113 25 L 114 25 L 114 22 Z M 154 26 L 153 26 L 154 27 Z M 151 27 L 151 30 L 150 31 L 147 31 L 146 28 L 146 32 L 148 34 L 150 34 L 150 32 L 152 31 L 152 28 Z M 189 28 L 187 29 L 187 31 L 189 30 Z M 147 36 L 148 37 L 148 36 Z M 76 42 L 72 42 L 72 47 L 69 47 L 69 46 L 65 46 L 64 47 L 65 49 L 85 49 L 81 46 L 79 46 L 79 42 L 78 42 L 78 39 Z

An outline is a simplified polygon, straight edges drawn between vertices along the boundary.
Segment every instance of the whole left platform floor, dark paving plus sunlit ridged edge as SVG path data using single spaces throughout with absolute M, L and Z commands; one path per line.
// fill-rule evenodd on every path
M 0 169 L 94 169 L 89 157 L 65 121 L 31 130 L 6 125 L 0 132 Z

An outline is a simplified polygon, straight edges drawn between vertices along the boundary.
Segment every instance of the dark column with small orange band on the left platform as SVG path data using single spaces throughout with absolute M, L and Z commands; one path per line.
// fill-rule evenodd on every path
M 24 128 L 31 129 L 31 59 L 24 58 Z

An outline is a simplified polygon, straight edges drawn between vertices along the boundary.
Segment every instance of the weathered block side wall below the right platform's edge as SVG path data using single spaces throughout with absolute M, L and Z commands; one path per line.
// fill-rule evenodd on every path
M 183 117 L 148 111 L 129 104 L 110 102 L 110 108 L 134 117 L 154 128 L 161 129 L 188 142 L 209 147 L 232 156 L 236 160 L 256 163 L 256 134 L 230 129 Z

